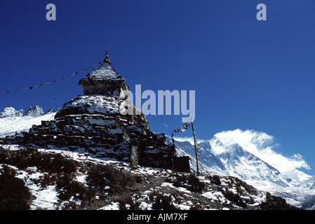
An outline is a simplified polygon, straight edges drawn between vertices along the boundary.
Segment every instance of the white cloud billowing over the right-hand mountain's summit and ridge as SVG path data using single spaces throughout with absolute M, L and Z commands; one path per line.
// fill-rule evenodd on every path
M 309 178 L 309 175 L 297 170 L 300 168 L 310 169 L 302 155 L 295 154 L 288 158 L 276 152 L 274 148 L 279 144 L 275 144 L 274 137 L 269 134 L 254 130 L 232 130 L 217 133 L 215 137 L 220 139 L 222 145 L 214 142 L 215 138 L 210 140 L 211 146 L 214 146 L 212 148 L 214 154 L 224 153 L 229 151 L 230 146 L 233 144 L 239 144 L 243 149 L 256 155 L 291 179 L 302 181 Z

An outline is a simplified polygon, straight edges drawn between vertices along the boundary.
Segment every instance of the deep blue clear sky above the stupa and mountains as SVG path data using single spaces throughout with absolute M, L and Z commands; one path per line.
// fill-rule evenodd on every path
M 46 20 L 48 3 L 57 8 L 55 21 Z M 258 3 L 266 4 L 267 21 L 257 21 Z M 130 87 L 195 90 L 199 139 L 265 132 L 279 153 L 300 153 L 314 175 L 314 10 L 312 0 L 2 0 L 0 92 L 62 78 L 109 50 Z M 85 75 L 0 94 L 0 109 L 58 108 L 82 94 L 72 85 Z M 148 116 L 154 132 L 182 125 L 182 116 L 159 118 L 168 128 Z

